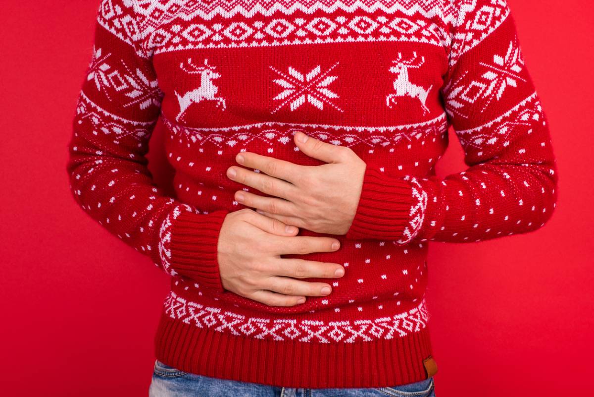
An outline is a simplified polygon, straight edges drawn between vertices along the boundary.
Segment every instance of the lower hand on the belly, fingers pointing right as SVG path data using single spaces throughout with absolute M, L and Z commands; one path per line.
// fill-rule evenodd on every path
M 270 306 L 294 306 L 304 303 L 305 296 L 330 294 L 328 283 L 298 279 L 339 278 L 345 274 L 344 267 L 280 255 L 333 252 L 340 248 L 340 241 L 296 236 L 299 229 L 289 226 L 292 229 L 287 232 L 286 226 L 248 208 L 228 213 L 217 244 L 223 288 Z

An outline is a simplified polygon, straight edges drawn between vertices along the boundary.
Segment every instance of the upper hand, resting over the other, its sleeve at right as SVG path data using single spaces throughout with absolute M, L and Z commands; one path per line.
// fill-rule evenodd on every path
M 353 150 L 298 132 L 295 144 L 309 157 L 327 164 L 298 165 L 257 153 L 242 152 L 231 166 L 233 181 L 276 197 L 239 190 L 235 200 L 263 215 L 313 232 L 344 235 L 355 218 L 361 196 L 365 162 Z

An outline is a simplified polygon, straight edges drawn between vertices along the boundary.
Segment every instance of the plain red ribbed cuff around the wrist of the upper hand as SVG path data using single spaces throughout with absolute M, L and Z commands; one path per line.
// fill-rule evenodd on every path
M 359 204 L 346 238 L 406 238 L 413 206 L 412 185 L 367 166 Z

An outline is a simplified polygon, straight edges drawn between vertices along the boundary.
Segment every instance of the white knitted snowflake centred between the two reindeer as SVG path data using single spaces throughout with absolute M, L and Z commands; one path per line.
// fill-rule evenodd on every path
M 328 86 L 338 78 L 338 76 L 328 74 L 338 64 L 339 62 L 336 62 L 336 64 L 332 65 L 324 73 L 321 73 L 321 66 L 317 65 L 317 67 L 305 75 L 290 66 L 288 74 L 271 66 L 271 70 L 282 77 L 273 80 L 274 83 L 279 84 L 284 89 L 273 98 L 282 102 L 271 113 L 273 114 L 279 111 L 286 105 L 289 105 L 291 111 L 294 111 L 306 101 L 320 110 L 324 110 L 324 103 L 326 103 L 331 108 L 343 112 L 342 109 L 332 102 L 332 99 L 339 97 L 338 94 L 328 89 Z

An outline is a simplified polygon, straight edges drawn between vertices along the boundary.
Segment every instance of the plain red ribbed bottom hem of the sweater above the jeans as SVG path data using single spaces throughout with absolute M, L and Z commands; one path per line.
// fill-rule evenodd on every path
M 279 387 L 390 387 L 427 379 L 429 327 L 354 343 L 274 341 L 197 327 L 162 313 L 159 361 L 188 373 Z

